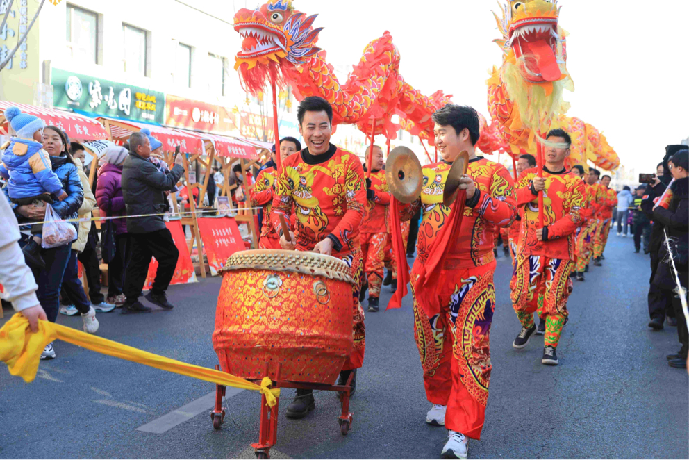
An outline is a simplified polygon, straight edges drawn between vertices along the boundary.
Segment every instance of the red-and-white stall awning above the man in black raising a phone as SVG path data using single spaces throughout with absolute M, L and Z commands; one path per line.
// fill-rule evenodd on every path
M 97 117 L 96 120 L 103 123 L 103 125 L 107 124 L 110 128 L 110 134 L 116 140 L 128 140 L 131 133 L 137 133 L 147 128 L 151 131 L 151 135 L 154 138 L 163 142 L 164 151 L 174 151 L 174 148 L 178 145 L 180 150 L 187 154 L 204 154 L 205 151 L 203 139 L 188 132 L 164 128 L 155 124 L 117 120 L 108 117 Z

